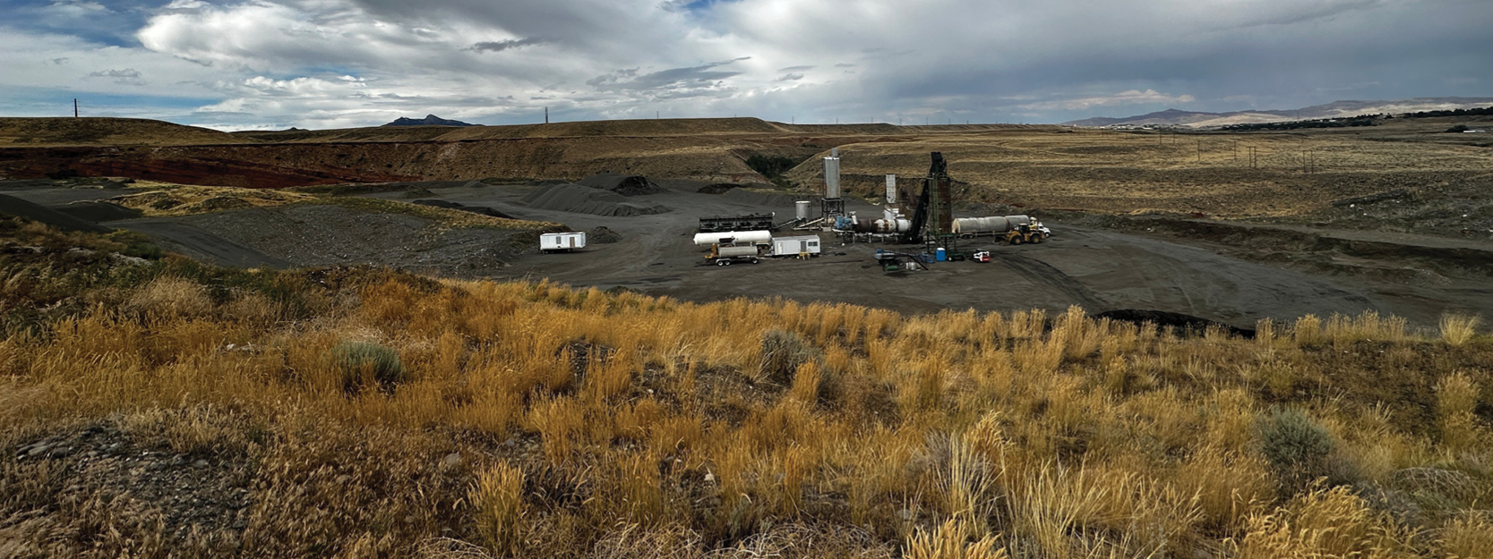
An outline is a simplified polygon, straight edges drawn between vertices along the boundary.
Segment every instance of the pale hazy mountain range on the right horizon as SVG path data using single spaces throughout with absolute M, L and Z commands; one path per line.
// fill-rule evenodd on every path
M 1211 128 L 1230 124 L 1285 122 L 1320 118 L 1344 118 L 1378 113 L 1412 113 L 1421 110 L 1478 109 L 1493 106 L 1493 97 L 1415 97 L 1394 101 L 1332 101 L 1290 110 L 1235 110 L 1206 113 L 1168 109 L 1126 118 L 1085 118 L 1063 122 L 1070 127 L 1184 127 Z

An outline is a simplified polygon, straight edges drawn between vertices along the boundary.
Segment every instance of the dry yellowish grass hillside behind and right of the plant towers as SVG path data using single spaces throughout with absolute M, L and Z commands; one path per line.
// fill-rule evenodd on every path
M 942 152 L 950 174 L 970 185 L 957 192 L 967 201 L 1103 213 L 1294 216 L 1333 200 L 1433 189 L 1451 173 L 1475 176 L 1493 168 L 1493 157 L 1477 146 L 1375 142 L 1357 134 L 1178 136 L 1035 127 L 897 139 L 903 142 L 839 146 L 847 192 L 879 197 L 887 173 L 912 186 L 927 174 L 929 152 Z M 1257 154 L 1253 165 L 1251 151 Z M 1314 173 L 1303 171 L 1308 151 Z M 811 160 L 788 177 L 823 188 L 821 174 Z

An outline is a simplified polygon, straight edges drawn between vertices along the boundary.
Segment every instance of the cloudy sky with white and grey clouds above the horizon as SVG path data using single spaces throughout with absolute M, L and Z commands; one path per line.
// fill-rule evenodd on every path
M 0 115 L 1062 122 L 1493 95 L 1490 0 L 0 0 Z

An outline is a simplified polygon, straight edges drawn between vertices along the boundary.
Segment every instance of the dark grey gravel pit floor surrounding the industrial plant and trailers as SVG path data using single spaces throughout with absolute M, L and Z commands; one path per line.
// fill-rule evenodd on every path
M 1054 237 L 1042 244 L 997 246 L 990 239 L 961 250 L 991 249 L 988 264 L 942 262 L 929 271 L 885 273 L 878 247 L 842 243 L 823 233 L 826 252 L 811 261 L 763 259 L 757 265 L 706 265 L 691 243 L 699 218 L 776 212 L 793 215 L 793 197 L 746 191 L 700 194 L 703 182 L 658 180 L 658 194 L 627 197 L 664 213 L 603 216 L 534 209 L 523 198 L 545 186 L 430 183 L 420 197 L 490 207 L 518 219 L 551 221 L 585 231 L 605 227 L 617 243 L 573 253 L 540 255 L 511 231 L 437 228 L 408 215 L 361 213 L 339 206 L 255 207 L 178 218 L 113 221 L 106 225 L 157 237 L 190 256 L 242 267 L 378 264 L 412 271 L 499 280 L 551 279 L 600 289 L 627 288 L 687 301 L 782 297 L 851 303 L 899 312 L 942 309 L 1059 312 L 1070 304 L 1091 313 L 1162 310 L 1253 328 L 1262 318 L 1294 319 L 1374 310 L 1430 326 L 1441 313 L 1493 316 L 1493 243 L 1408 234 L 1320 231 L 1284 225 L 1226 224 L 1156 216 L 1042 216 Z M 118 191 L 7 188 L 39 204 L 66 206 Z M 418 185 L 412 185 L 414 188 Z M 85 195 L 94 192 L 94 195 Z M 409 191 L 364 197 L 405 200 Z M 851 203 L 851 212 L 879 215 Z M 964 212 L 970 215 L 969 212 Z M 781 231 L 778 236 L 797 234 Z M 521 244 L 515 244 L 521 243 Z

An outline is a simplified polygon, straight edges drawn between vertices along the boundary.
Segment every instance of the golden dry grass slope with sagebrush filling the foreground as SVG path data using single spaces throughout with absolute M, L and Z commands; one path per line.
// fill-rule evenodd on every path
M 13 556 L 1493 549 L 1493 340 L 1471 319 L 1245 340 L 0 236 Z

